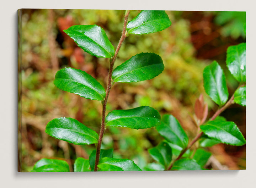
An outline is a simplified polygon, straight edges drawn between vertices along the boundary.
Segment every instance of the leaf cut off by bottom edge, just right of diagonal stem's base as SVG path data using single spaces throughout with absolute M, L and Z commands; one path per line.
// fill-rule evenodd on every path
M 171 170 L 203 170 L 194 159 L 180 159 L 177 160 L 172 166 Z

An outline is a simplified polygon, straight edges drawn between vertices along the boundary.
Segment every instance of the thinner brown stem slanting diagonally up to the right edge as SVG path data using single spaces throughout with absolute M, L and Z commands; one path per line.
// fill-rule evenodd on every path
M 240 88 L 240 87 L 242 87 L 242 86 L 244 86 L 244 84 L 243 84 L 243 85 L 240 85 L 238 88 Z M 237 89 L 238 89 L 238 88 L 237 88 Z M 210 118 L 210 121 L 215 120 L 215 118 L 216 118 L 218 115 L 220 115 L 221 112 L 223 112 L 224 110 L 226 110 L 226 109 L 227 109 L 231 104 L 233 104 L 233 103 L 234 103 L 234 94 L 231 96 L 231 98 L 228 100 L 228 102 L 226 102 L 226 104 L 225 104 L 223 107 L 221 107 L 220 109 L 218 109 L 218 110 L 215 112 L 215 114 Z M 190 143 L 185 149 L 183 149 L 183 150 L 181 151 L 180 155 L 179 155 L 174 161 L 172 161 L 172 163 L 171 163 L 170 166 L 167 168 L 167 170 L 171 170 L 171 168 L 172 168 L 172 166 L 174 165 L 174 163 L 175 163 L 177 160 L 179 160 L 179 159 L 182 157 L 182 155 L 183 155 L 188 149 L 190 149 L 191 146 L 192 146 L 202 135 L 203 135 L 203 132 L 199 132 L 199 133 L 197 134 L 197 136 L 194 137 L 194 139 L 191 141 L 191 143 Z

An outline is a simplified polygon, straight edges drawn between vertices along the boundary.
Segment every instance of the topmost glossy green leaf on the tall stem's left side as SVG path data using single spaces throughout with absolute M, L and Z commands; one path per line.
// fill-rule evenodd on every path
M 71 26 L 63 30 L 85 52 L 96 57 L 114 56 L 114 46 L 108 40 L 105 31 L 96 25 Z

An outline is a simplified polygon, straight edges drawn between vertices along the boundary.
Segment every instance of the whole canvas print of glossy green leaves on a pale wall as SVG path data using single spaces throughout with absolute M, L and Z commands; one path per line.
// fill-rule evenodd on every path
M 246 169 L 245 22 L 18 10 L 18 171 Z

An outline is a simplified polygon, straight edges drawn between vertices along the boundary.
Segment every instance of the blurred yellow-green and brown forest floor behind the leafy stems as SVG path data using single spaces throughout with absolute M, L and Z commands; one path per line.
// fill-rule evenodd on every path
M 129 20 L 139 12 L 130 12 Z M 245 12 L 166 11 L 172 24 L 164 31 L 129 35 L 115 66 L 135 54 L 154 52 L 162 57 L 165 70 L 156 78 L 138 83 L 116 83 L 111 89 L 107 113 L 142 105 L 161 115 L 172 114 L 190 138 L 196 135 L 194 102 L 202 93 L 211 117 L 217 110 L 203 89 L 202 72 L 216 60 L 223 68 L 229 95 L 238 82 L 225 65 L 226 49 L 245 42 Z M 18 171 L 29 172 L 44 157 L 66 160 L 72 170 L 77 157 L 89 158 L 94 145 L 74 145 L 48 136 L 47 123 L 57 117 L 72 117 L 100 131 L 100 101 L 63 92 L 53 84 L 64 67 L 79 68 L 107 85 L 109 60 L 81 50 L 63 32 L 76 24 L 101 26 L 116 47 L 123 27 L 122 10 L 21 9 L 18 11 Z M 246 107 L 233 104 L 221 116 L 234 121 L 246 138 Z M 133 130 L 108 127 L 102 148 L 114 148 L 114 157 L 134 160 L 144 168 L 153 158 L 148 149 L 163 138 L 155 128 Z M 214 145 L 209 148 L 209 169 L 245 169 L 246 146 Z

